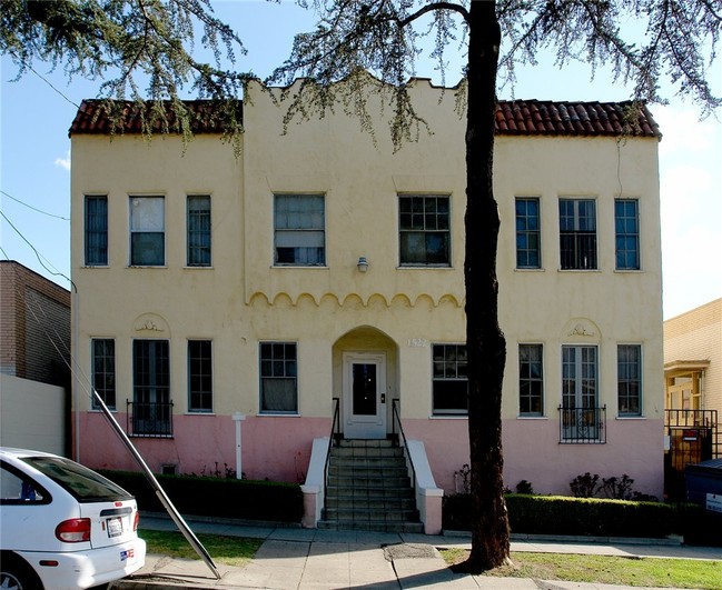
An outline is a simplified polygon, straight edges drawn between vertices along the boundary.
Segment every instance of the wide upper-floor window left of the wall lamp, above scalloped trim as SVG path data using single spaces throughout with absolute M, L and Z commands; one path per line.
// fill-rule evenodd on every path
M 323 194 L 274 196 L 275 264 L 324 266 L 326 263 L 325 228 Z

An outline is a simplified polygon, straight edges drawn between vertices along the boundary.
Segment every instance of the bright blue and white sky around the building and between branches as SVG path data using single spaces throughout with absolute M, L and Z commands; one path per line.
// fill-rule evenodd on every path
M 215 2 L 217 14 L 229 22 L 248 49 L 239 56 L 240 70 L 270 72 L 288 54 L 293 34 L 313 27 L 307 13 L 290 2 L 260 0 Z M 68 129 L 83 98 L 95 98 L 100 82 L 73 79 L 61 68 L 50 72 L 36 63 L 20 80 L 6 57 L 0 63 L 0 258 L 17 260 L 69 288 L 70 277 L 70 140 Z M 455 83 L 452 64 L 447 83 Z M 417 76 L 435 77 L 433 64 L 419 62 Z M 518 70 L 518 84 L 500 98 L 552 100 L 625 100 L 630 90 L 597 70 L 593 81 L 583 64 L 554 68 L 542 56 L 535 68 Z M 722 68 L 711 74 L 722 93 Z M 666 107 L 651 110 L 664 136 L 660 144 L 664 317 L 722 297 L 722 123 L 699 121 L 691 102 L 673 97 Z M 722 118 L 722 112 L 718 113 Z M 7 219 L 4 219 L 7 218 Z

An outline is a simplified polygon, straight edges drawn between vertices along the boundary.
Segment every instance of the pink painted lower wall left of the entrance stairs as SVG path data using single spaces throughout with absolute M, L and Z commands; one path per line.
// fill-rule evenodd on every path
M 125 430 L 127 416 L 113 414 Z M 329 418 L 247 417 L 241 424 L 241 471 L 248 479 L 303 482 L 314 438 L 327 437 Z M 236 468 L 236 423 L 230 416 L 174 416 L 174 438 L 131 438 L 150 469 L 160 473 L 175 464 L 177 473 L 225 477 Z M 95 469 L 138 471 L 105 416 L 80 416 L 80 461 Z

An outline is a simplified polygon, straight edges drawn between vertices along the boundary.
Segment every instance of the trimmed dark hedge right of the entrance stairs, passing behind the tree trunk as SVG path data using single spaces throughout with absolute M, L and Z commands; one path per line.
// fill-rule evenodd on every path
M 505 500 L 515 533 L 651 538 L 681 534 L 685 542 L 710 544 L 713 531 L 719 530 L 696 504 L 515 493 L 505 496 Z M 471 508 L 469 494 L 444 498 L 444 529 L 469 530 Z

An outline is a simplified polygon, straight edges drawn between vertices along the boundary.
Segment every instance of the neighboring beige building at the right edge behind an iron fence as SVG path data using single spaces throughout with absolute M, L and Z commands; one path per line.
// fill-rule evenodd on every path
M 664 381 L 672 489 L 685 464 L 722 457 L 722 298 L 664 322 Z

